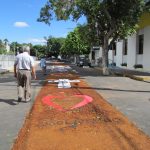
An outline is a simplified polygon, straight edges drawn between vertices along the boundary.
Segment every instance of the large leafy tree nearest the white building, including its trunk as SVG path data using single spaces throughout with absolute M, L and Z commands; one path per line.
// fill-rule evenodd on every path
M 78 20 L 84 15 L 89 32 L 96 32 L 92 36 L 102 46 L 103 74 L 108 74 L 109 44 L 136 31 L 144 7 L 144 0 L 48 0 L 38 21 L 50 24 L 55 16 L 58 20 L 67 20 L 71 16 Z

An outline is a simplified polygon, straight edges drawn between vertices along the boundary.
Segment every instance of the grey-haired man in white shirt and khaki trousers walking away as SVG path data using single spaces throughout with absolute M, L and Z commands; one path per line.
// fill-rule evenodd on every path
M 16 56 L 14 63 L 14 76 L 17 78 L 18 102 L 23 99 L 31 100 L 31 75 L 36 79 L 34 59 L 30 56 L 30 48 L 23 47 L 23 53 Z

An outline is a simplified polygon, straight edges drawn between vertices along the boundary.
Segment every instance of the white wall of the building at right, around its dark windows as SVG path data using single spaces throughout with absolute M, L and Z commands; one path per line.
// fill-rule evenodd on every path
M 137 36 L 140 34 L 144 34 L 142 55 L 137 54 Z M 127 55 L 123 55 L 123 41 L 117 42 L 116 49 L 116 56 L 113 55 L 113 51 L 109 51 L 109 59 L 114 60 L 118 67 L 121 67 L 122 63 L 127 63 L 128 69 L 134 69 L 133 66 L 135 64 L 143 64 L 143 69 L 150 71 L 150 26 L 140 30 L 137 34 L 128 37 Z

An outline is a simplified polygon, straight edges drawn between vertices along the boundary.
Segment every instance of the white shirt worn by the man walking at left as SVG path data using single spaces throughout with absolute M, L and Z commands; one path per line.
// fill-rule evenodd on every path
M 33 57 L 31 57 L 28 52 L 23 52 L 16 56 L 15 65 L 18 69 L 27 69 L 31 70 L 31 67 L 34 66 Z

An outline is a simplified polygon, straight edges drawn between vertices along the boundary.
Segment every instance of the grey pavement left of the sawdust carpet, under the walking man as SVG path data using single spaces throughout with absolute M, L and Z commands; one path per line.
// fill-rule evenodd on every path
M 13 73 L 0 74 L 0 150 L 10 150 L 21 129 L 26 115 L 42 86 L 41 71 L 38 68 L 37 80 L 32 81 L 32 101 L 17 102 L 17 82 Z

